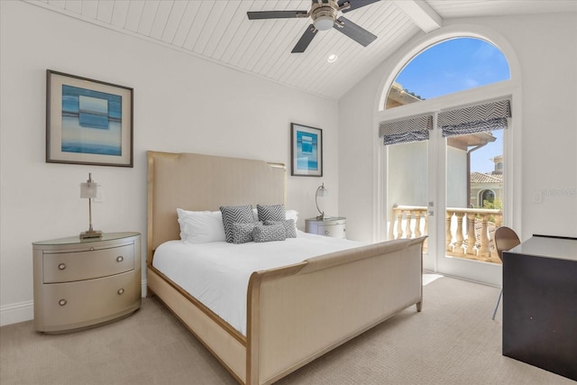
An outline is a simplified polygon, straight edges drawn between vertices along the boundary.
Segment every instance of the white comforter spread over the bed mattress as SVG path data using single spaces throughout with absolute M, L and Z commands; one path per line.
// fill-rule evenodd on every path
M 246 294 L 252 272 L 362 244 L 300 231 L 297 238 L 269 243 L 169 241 L 156 249 L 152 264 L 246 335 Z

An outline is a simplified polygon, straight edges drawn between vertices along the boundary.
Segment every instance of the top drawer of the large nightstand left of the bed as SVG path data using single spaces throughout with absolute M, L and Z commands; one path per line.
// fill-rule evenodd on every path
M 106 277 L 134 269 L 133 243 L 86 252 L 44 253 L 44 283 Z

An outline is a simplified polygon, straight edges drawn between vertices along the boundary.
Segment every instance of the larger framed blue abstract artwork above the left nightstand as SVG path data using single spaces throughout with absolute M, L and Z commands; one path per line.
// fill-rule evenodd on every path
M 47 69 L 46 161 L 133 167 L 133 88 Z

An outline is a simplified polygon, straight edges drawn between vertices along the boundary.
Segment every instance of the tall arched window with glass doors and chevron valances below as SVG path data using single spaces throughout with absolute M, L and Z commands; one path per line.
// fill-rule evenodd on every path
M 520 98 L 514 51 L 487 36 L 455 28 L 408 47 L 375 116 L 388 237 L 427 234 L 426 269 L 495 283 L 491 236 L 517 220 L 510 181 L 518 167 L 508 148 L 517 148 L 511 105 L 519 108 Z

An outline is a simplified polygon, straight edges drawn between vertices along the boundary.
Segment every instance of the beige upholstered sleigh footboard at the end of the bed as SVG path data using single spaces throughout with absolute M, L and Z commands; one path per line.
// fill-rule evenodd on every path
M 333 252 L 249 284 L 247 383 L 279 380 L 422 301 L 426 237 Z

